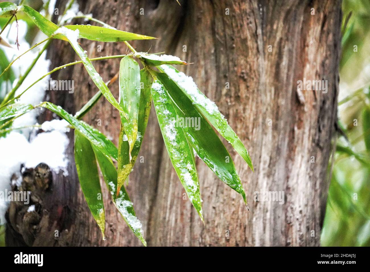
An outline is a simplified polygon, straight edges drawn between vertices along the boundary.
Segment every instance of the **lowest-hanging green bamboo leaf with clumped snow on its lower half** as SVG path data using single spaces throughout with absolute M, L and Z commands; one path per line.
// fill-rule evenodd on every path
M 108 159 L 98 148 L 92 146 L 94 150 L 95 157 L 99 163 L 101 173 L 103 174 L 105 184 L 111 194 L 114 205 L 120 212 L 122 218 L 125 220 L 129 228 L 134 232 L 135 236 L 139 238 L 144 246 L 147 245 L 143 234 L 142 234 L 142 224 L 137 219 L 135 215 L 132 202 L 126 192 L 125 187 L 122 186 L 120 194 L 116 197 L 117 194 L 117 170 L 114 167 L 112 161 Z

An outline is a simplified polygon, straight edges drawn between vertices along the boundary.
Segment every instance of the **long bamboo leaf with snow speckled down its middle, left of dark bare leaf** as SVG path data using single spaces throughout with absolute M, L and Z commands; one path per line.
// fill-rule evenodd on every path
M 176 110 L 164 86 L 159 81 L 154 81 L 151 93 L 169 158 L 186 194 L 203 221 L 193 150 L 189 147 L 184 131 L 176 123 Z

